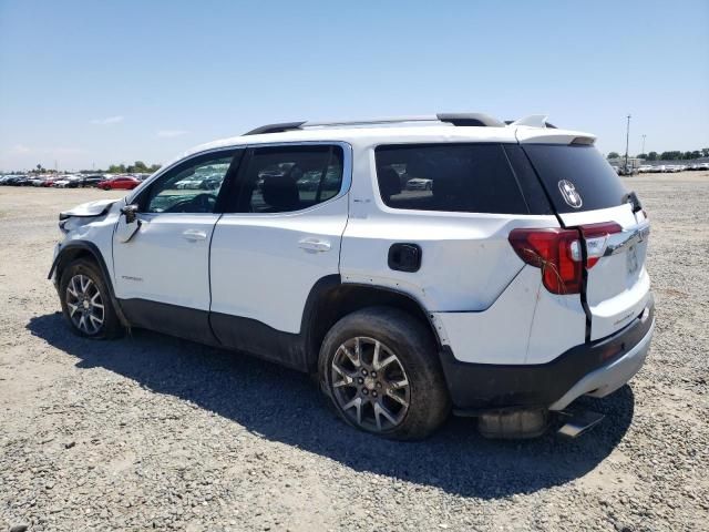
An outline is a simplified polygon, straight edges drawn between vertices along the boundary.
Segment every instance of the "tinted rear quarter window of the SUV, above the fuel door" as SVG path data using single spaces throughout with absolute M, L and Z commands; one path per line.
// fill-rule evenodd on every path
M 528 214 L 501 144 L 405 144 L 376 150 L 383 202 L 393 208 Z

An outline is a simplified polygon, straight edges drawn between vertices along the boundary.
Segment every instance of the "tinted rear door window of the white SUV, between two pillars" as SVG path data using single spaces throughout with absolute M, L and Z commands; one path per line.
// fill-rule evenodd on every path
M 238 212 L 300 211 L 339 194 L 342 149 L 325 145 L 257 147 L 242 175 Z

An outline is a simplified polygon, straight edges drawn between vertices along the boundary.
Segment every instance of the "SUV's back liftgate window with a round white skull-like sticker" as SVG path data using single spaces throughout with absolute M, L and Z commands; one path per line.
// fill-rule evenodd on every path
M 558 213 L 617 207 L 628 193 L 593 146 L 523 144 Z

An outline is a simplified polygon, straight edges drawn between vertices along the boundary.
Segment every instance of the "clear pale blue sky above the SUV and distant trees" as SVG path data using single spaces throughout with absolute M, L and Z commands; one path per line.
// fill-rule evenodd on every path
M 164 163 L 271 122 L 548 114 L 709 147 L 709 0 L 0 0 L 0 170 Z

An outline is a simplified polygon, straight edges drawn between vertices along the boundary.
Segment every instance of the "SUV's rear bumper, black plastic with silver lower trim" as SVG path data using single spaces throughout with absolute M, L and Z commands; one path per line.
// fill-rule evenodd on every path
M 655 305 L 624 329 L 586 342 L 540 365 L 467 364 L 445 346 L 441 364 L 454 411 L 474 416 L 491 410 L 547 408 L 562 410 L 583 395 L 605 397 L 640 369 L 655 326 Z

